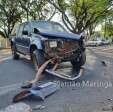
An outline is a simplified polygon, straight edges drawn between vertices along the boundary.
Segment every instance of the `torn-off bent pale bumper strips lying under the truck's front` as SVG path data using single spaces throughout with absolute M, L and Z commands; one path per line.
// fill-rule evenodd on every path
M 49 63 L 52 63 L 54 66 L 52 69 L 46 69 L 46 67 L 48 66 Z M 63 78 L 63 79 L 66 79 L 66 80 L 76 80 L 78 79 L 79 77 L 81 77 L 84 73 L 84 68 L 81 67 L 79 68 L 79 72 L 75 72 L 74 75 L 70 75 L 70 74 L 63 74 L 63 73 L 58 73 L 57 70 L 59 70 L 58 66 L 60 65 L 60 61 L 57 60 L 56 58 L 52 58 L 52 59 L 49 59 L 47 60 L 44 64 L 41 65 L 41 67 L 38 69 L 38 72 L 35 76 L 35 78 L 31 81 L 27 81 L 26 83 L 24 83 L 24 85 L 22 85 L 21 87 L 22 88 L 31 88 L 33 84 L 35 84 L 37 81 L 40 80 L 40 78 L 42 77 L 42 73 L 45 72 L 46 73 L 49 73 L 49 74 L 52 74 L 54 76 L 57 76 L 59 78 Z M 70 67 L 72 68 L 72 67 Z M 65 67 L 63 67 L 64 71 Z M 73 74 L 73 73 L 71 73 Z

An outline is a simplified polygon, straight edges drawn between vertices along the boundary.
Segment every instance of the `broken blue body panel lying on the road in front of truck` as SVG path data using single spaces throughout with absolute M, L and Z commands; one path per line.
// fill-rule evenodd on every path
M 36 86 L 36 87 L 32 87 L 30 89 L 26 89 L 26 90 L 21 91 L 19 94 L 17 94 L 13 98 L 13 102 L 21 101 L 21 100 L 23 100 L 27 97 L 30 97 L 30 96 L 35 97 L 37 99 L 44 100 L 45 97 L 53 94 L 58 89 L 59 89 L 59 86 L 56 83 L 48 82 L 46 84 Z

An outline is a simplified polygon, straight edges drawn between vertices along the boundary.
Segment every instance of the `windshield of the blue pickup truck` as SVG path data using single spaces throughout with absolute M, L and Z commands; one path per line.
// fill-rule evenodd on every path
M 67 32 L 63 26 L 55 22 L 32 22 L 33 28 L 37 28 L 39 31 L 48 32 Z

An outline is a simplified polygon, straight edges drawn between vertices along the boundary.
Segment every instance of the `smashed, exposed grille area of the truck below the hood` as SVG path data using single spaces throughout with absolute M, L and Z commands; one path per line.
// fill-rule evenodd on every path
M 47 40 L 44 42 L 45 58 L 57 58 L 61 61 L 77 59 L 81 54 L 78 41 L 73 40 Z

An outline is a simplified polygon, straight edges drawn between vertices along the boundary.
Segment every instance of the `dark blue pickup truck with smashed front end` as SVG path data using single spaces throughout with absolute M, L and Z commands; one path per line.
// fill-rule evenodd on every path
M 13 58 L 29 55 L 35 67 L 50 58 L 70 61 L 77 68 L 85 64 L 83 36 L 67 32 L 57 22 L 24 22 L 13 29 L 10 37 Z

